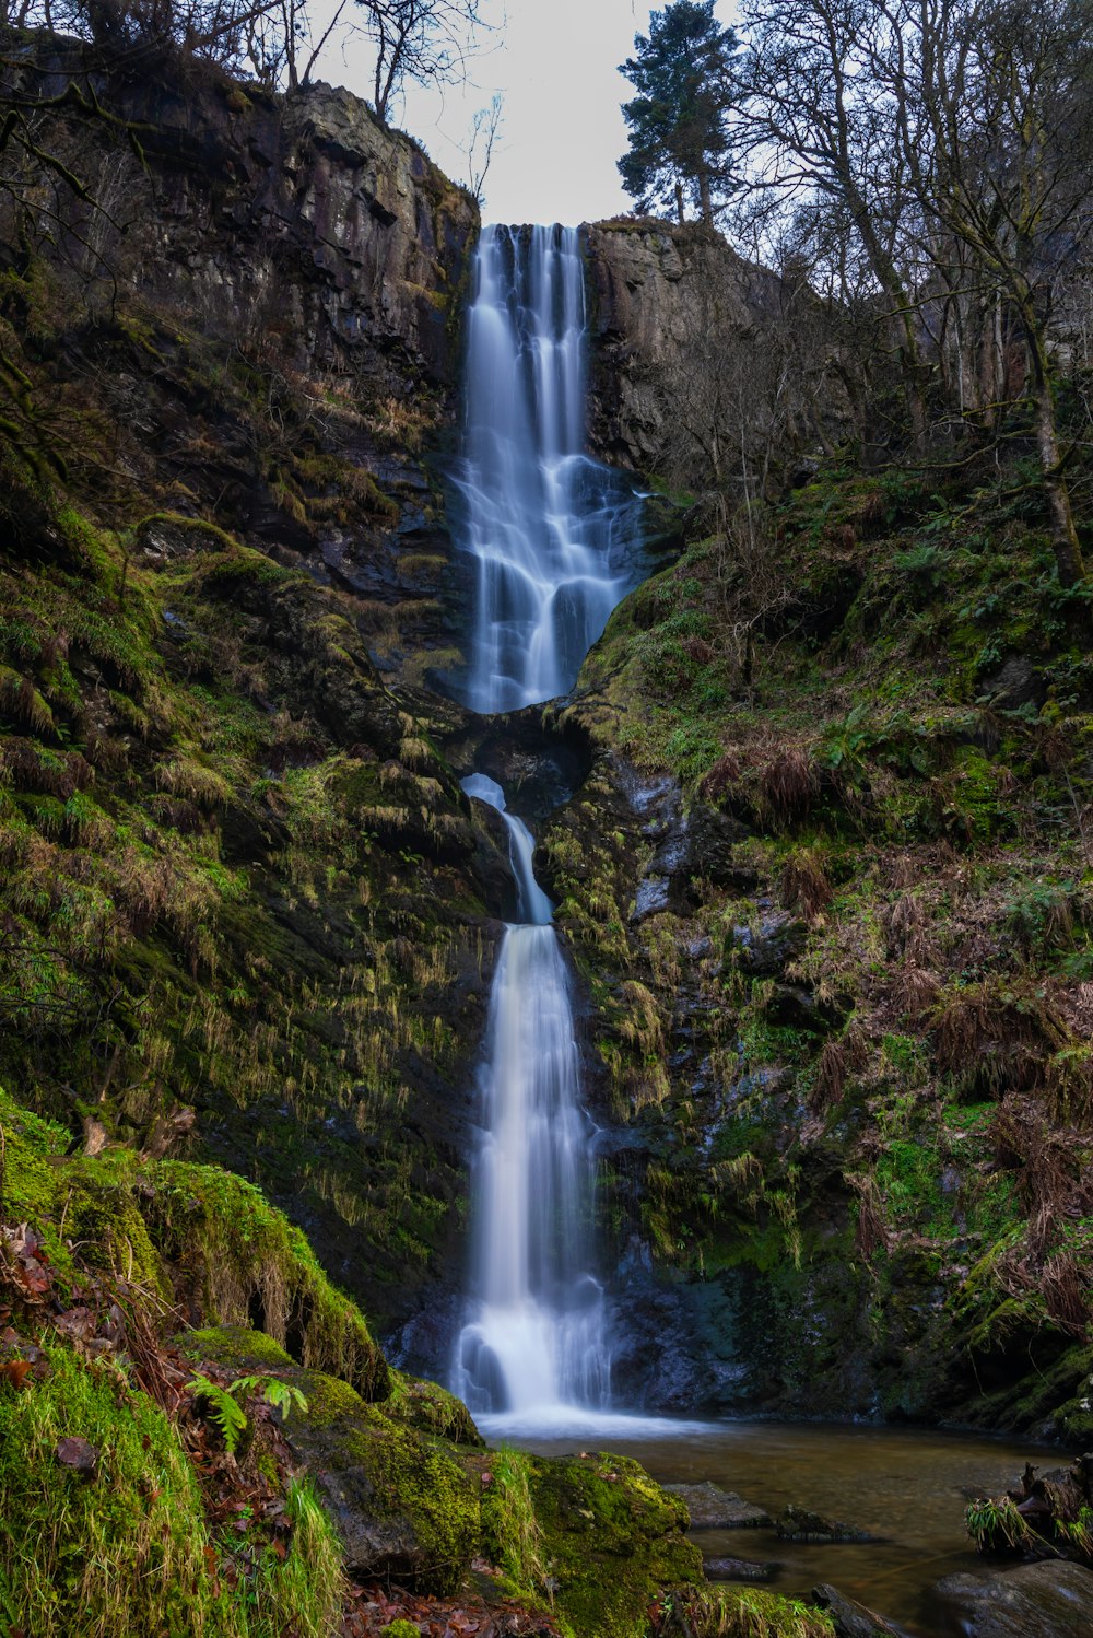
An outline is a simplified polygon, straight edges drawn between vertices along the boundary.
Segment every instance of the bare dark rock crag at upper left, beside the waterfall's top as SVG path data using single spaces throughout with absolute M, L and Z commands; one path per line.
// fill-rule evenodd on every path
M 136 74 L 74 41 L 43 51 L 25 80 L 93 90 L 139 141 L 137 161 L 72 116 L 56 144 L 113 218 L 95 221 L 103 269 L 209 339 L 452 395 L 478 208 L 412 138 L 324 84 L 281 97 L 183 59 Z

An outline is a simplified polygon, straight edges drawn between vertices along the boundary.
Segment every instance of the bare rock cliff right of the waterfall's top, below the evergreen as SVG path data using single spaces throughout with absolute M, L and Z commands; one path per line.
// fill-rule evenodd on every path
M 676 400 L 694 393 L 695 364 L 710 349 L 731 354 L 780 314 L 782 282 L 694 223 L 596 223 L 587 246 L 592 442 L 607 460 L 651 470 Z

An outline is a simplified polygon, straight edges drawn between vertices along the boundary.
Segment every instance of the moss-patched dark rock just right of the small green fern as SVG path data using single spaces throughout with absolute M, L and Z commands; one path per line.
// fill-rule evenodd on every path
M 278 1371 L 308 1399 L 285 1422 L 296 1459 L 316 1476 L 350 1574 L 391 1577 L 447 1595 L 478 1550 L 473 1481 L 437 1440 L 367 1405 L 345 1382 Z

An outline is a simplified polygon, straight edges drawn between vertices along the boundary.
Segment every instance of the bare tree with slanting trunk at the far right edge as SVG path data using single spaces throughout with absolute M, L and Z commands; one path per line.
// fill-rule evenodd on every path
M 1010 395 L 1006 337 L 1024 347 L 1036 447 L 1064 585 L 1085 577 L 1055 406 L 1057 298 L 1093 233 L 1093 41 L 1075 0 L 905 0 L 888 64 L 939 283 L 977 303 L 980 352 Z M 911 162 L 911 154 L 915 156 Z

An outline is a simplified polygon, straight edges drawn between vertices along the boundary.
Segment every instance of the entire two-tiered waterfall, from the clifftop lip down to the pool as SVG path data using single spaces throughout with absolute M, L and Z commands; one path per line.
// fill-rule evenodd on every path
M 640 501 L 584 454 L 584 267 L 576 229 L 486 228 L 466 364 L 461 539 L 476 560 L 466 704 L 512 711 L 571 688 L 636 578 Z M 483 773 L 463 790 L 509 834 L 519 921 L 489 996 L 473 1163 L 471 1292 L 452 1384 L 497 1427 L 604 1422 L 610 1350 L 592 1274 L 592 1127 L 569 975 L 527 826 Z

